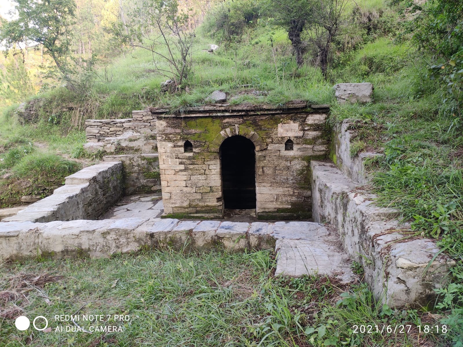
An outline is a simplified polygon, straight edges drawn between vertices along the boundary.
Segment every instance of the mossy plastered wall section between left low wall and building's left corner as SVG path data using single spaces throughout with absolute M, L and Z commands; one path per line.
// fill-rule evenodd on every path
M 161 192 L 157 153 L 105 155 L 103 161 L 122 162 L 125 195 Z

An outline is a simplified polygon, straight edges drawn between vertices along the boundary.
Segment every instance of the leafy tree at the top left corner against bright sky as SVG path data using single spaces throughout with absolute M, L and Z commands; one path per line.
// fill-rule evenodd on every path
M 0 42 L 4 41 L 8 51 L 21 47 L 24 43 L 38 43 L 44 54 L 51 57 L 56 71 L 47 67 L 46 76 L 58 75 L 66 87 L 80 92 L 82 71 L 88 74 L 93 67 L 90 60 L 76 60 L 71 56 L 70 46 L 73 38 L 72 25 L 75 24 L 74 0 L 15 0 L 17 19 L 2 20 Z M 24 52 L 23 52 L 24 54 Z M 57 72 L 57 74 L 56 74 Z M 87 86 L 88 81 L 84 83 Z

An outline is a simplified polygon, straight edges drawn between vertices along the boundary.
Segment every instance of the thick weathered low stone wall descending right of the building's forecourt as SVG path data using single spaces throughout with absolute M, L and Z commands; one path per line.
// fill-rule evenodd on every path
M 376 298 L 395 307 L 428 304 L 453 261 L 441 254 L 425 271 L 439 252 L 433 240 L 402 239 L 406 226 L 395 219 L 397 212 L 375 206 L 374 196 L 358 191 L 334 164 L 312 161 L 311 168 L 313 220 L 338 231 L 351 259 L 362 264 Z

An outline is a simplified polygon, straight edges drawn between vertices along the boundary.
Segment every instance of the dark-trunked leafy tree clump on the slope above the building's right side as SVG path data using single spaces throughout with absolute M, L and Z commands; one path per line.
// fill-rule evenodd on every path
M 344 25 L 342 15 L 347 0 L 269 1 L 272 13 L 276 13 L 276 23 L 288 31 L 298 67 L 302 66 L 304 51 L 310 43 L 315 48 L 315 65 L 326 78 L 332 43 Z M 307 36 L 306 40 L 303 35 Z

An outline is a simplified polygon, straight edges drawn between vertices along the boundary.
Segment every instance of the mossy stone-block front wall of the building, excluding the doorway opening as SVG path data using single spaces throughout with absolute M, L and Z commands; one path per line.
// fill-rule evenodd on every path
M 235 113 L 157 116 L 165 214 L 223 215 L 219 149 L 227 137 L 238 135 L 249 138 L 256 148 L 257 216 L 310 218 L 310 161 L 329 155 L 327 109 Z M 184 151 L 187 140 L 193 144 L 191 153 Z M 293 149 L 285 149 L 287 140 Z

